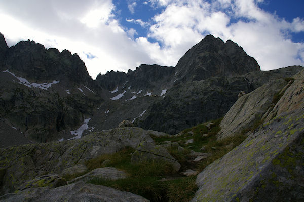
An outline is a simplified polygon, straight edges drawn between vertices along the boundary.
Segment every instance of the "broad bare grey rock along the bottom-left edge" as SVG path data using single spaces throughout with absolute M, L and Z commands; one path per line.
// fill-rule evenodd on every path
M 81 201 L 81 202 L 148 202 L 149 200 L 117 189 L 77 182 L 66 186 L 50 189 L 47 187 L 30 188 L 18 193 L 0 196 L 1 201 Z

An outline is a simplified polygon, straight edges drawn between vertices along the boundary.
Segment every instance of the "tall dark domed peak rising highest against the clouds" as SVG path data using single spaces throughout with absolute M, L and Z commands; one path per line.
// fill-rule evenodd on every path
M 242 47 L 228 40 L 207 35 L 178 61 L 177 77 L 180 80 L 204 80 L 213 76 L 237 76 L 259 71 L 256 60 Z

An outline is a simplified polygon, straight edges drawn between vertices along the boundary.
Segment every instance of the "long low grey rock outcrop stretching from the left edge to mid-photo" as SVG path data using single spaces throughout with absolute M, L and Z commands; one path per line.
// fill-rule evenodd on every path
M 126 147 L 136 149 L 142 141 L 154 143 L 145 130 L 127 127 L 92 133 L 77 140 L 1 148 L 0 168 L 5 174 L 0 193 L 14 191 L 24 182 L 45 173 L 60 174 L 64 169 L 102 154 Z

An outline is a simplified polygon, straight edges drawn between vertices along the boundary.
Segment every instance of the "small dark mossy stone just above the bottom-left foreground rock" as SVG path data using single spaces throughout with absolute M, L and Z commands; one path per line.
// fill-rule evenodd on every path
M 33 187 L 56 188 L 63 185 L 66 185 L 66 180 L 64 178 L 60 177 L 58 174 L 47 174 L 25 182 L 17 189 L 17 191 Z

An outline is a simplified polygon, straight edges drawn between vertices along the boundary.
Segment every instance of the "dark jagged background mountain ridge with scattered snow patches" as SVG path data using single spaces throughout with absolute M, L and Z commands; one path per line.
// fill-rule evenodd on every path
M 59 53 L 33 41 L 9 48 L 3 35 L 0 41 L 0 134 L 9 130 L 18 137 L 6 136 L 2 146 L 18 144 L 17 140 L 71 138 L 69 131 L 85 119 L 90 120 L 88 129 L 95 131 L 129 119 L 147 130 L 176 134 L 222 117 L 240 91 L 251 92 L 301 68 L 262 72 L 236 43 L 208 35 L 175 68 L 140 65 L 128 73 L 111 71 L 93 80 L 80 58 L 67 50 Z M 32 85 L 36 83 L 49 87 L 37 88 Z

